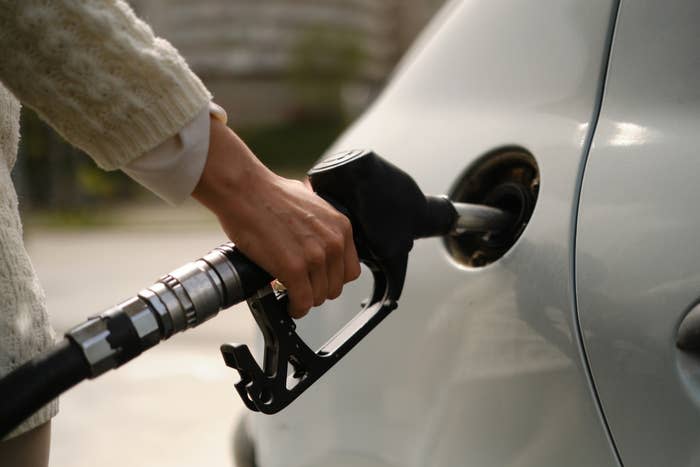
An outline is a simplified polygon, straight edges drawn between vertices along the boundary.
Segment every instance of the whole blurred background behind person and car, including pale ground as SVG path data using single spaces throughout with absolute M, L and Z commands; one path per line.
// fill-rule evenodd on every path
M 273 170 L 304 172 L 378 95 L 444 0 L 132 0 L 187 59 Z M 48 168 L 48 169 L 47 169 Z M 31 110 L 13 173 L 25 237 L 60 335 L 225 241 L 193 202 L 166 206 L 103 172 Z M 61 401 L 51 465 L 231 466 L 243 406 L 224 342 L 255 339 L 245 307 Z

